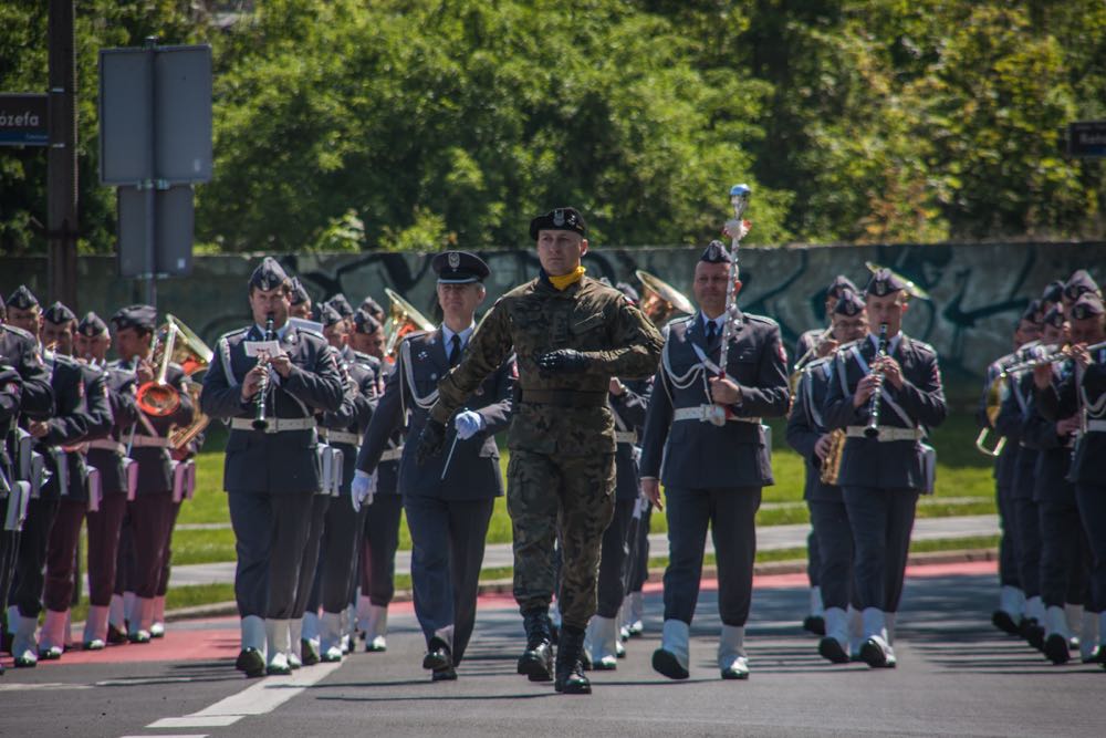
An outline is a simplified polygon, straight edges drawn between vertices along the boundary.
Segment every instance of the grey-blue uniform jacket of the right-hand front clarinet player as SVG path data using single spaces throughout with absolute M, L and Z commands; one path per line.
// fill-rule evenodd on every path
M 863 436 L 863 428 L 868 424 L 869 403 L 853 407 L 853 395 L 876 356 L 875 336 L 869 334 L 841 346 L 834 356 L 834 381 L 826 395 L 823 419 L 827 429 L 845 428 L 849 433 L 837 474 L 842 487 L 925 490 L 928 486 L 921 438 L 926 429 L 945 420 L 947 406 L 941 370 L 932 346 L 901 332 L 899 336 L 898 341 L 889 342 L 893 346 L 888 353 L 902 368 L 902 388 L 884 383 L 879 425 L 897 428 L 899 433 L 915 429 L 917 438 L 884 441 Z M 857 435 L 852 435 L 854 433 Z

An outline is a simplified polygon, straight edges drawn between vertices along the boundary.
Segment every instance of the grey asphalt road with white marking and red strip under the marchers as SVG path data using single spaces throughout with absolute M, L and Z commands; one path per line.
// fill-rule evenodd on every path
M 556 695 L 514 674 L 522 626 L 513 603 L 481 601 L 460 679 L 431 684 L 410 606 L 394 607 L 389 649 L 292 677 L 233 672 L 231 620 L 170 624 L 150 646 L 66 654 L 0 677 L 3 736 L 825 736 L 1100 735 L 1106 672 L 1052 666 L 994 631 L 993 564 L 925 567 L 907 584 L 894 671 L 832 666 L 797 626 L 804 578 L 758 581 L 749 682 L 713 663 L 716 596 L 692 626 L 691 678 L 649 667 L 661 601 L 648 593 L 646 636 L 617 672 L 592 673 L 594 695 Z M 166 661 L 168 659 L 168 661 Z

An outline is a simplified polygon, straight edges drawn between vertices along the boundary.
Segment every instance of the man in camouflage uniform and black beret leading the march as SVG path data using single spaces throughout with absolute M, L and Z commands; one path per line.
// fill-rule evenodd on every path
M 549 604 L 553 543 L 564 563 L 557 692 L 588 694 L 580 663 L 584 628 L 595 613 L 596 570 L 615 489 L 612 376 L 644 378 L 662 339 L 620 292 L 585 278 L 584 219 L 557 208 L 530 224 L 542 269 L 508 292 L 481 321 L 461 363 L 438 385 L 438 402 L 419 439 L 421 460 L 441 451 L 445 423 L 514 351 L 519 393 L 508 434 L 508 511 L 514 529 L 514 599 L 526 651 L 519 672 L 550 679 Z

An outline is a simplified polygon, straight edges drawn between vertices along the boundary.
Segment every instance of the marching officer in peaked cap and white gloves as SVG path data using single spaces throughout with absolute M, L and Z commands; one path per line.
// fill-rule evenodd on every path
M 483 280 L 490 271 L 474 254 L 439 253 L 431 268 L 438 274 L 445 318 L 437 331 L 411 334 L 400 344 L 357 459 L 354 493 L 366 499 L 372 495 L 369 475 L 404 416 L 410 413 L 408 439 L 431 422 L 438 381 L 466 355 L 476 331 L 476 309 L 487 294 Z M 422 667 L 431 671 L 435 682 L 457 678 L 456 666 L 476 622 L 488 523 L 494 499 L 503 493 L 494 435 L 511 415 L 514 374 L 514 362 L 507 357 L 469 407 L 450 418 L 448 455 L 419 465 L 408 443 L 400 461 L 399 489 L 414 547 L 415 614 L 427 644 Z

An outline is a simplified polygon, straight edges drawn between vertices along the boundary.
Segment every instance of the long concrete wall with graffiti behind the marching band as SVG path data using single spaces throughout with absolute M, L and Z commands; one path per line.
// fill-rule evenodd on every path
M 700 248 L 596 248 L 585 257 L 592 277 L 633 279 L 644 269 L 689 297 L 691 273 Z M 538 270 L 533 251 L 490 251 L 481 256 L 492 269 L 488 305 Z M 188 278 L 158 284 L 158 308 L 171 312 L 205 340 L 241 326 L 249 319 L 246 283 L 260 256 L 198 257 Z M 418 309 L 432 314 L 434 273 L 422 254 L 286 254 L 281 262 L 298 273 L 314 298 L 344 292 L 354 305 L 365 294 L 384 302 L 384 288 L 396 290 Z M 866 261 L 891 267 L 932 295 L 914 301 L 905 330 L 932 343 L 941 354 L 948 380 L 974 386 L 983 368 L 1008 351 L 1010 333 L 1021 310 L 1044 285 L 1089 269 L 1106 282 L 1106 243 L 908 245 L 873 247 L 747 248 L 741 250 L 744 289 L 740 304 L 749 312 L 780 322 L 790 346 L 802 331 L 823 324 L 822 290 L 843 273 L 863 288 Z M 95 310 L 105 319 L 119 305 L 138 301 L 143 291 L 133 280 L 116 277 L 109 257 L 79 261 L 79 311 Z M 0 259 L 0 293 L 21 282 L 45 299 L 45 260 Z M 792 360 L 794 356 L 791 357 Z

